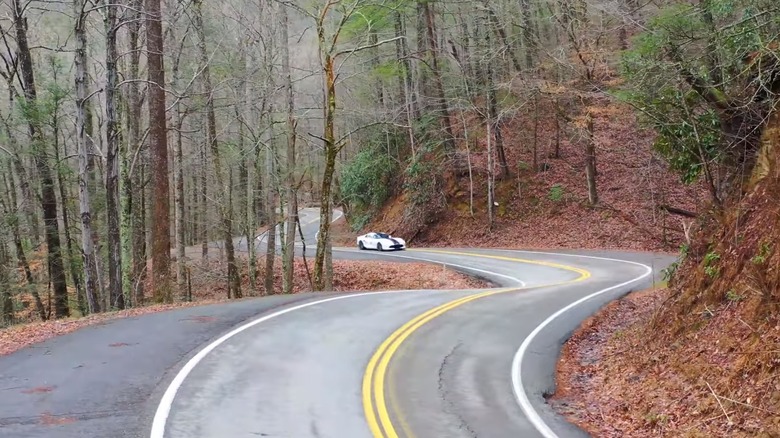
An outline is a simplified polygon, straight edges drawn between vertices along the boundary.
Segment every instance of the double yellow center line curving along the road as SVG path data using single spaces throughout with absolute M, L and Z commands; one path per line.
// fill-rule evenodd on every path
M 558 263 L 543 262 L 537 260 L 519 259 L 514 257 L 502 257 L 483 254 L 472 254 L 464 252 L 452 252 L 452 251 L 426 251 L 439 254 L 460 255 L 469 257 L 479 257 L 486 259 L 496 259 L 511 261 L 517 263 L 531 264 L 547 266 L 551 268 L 557 268 L 570 272 L 576 272 L 579 276 L 573 280 L 560 281 L 555 283 L 544 284 L 536 287 L 549 287 L 559 286 L 568 283 L 574 283 L 584 281 L 590 278 L 590 272 L 576 268 L 573 266 L 562 265 Z M 363 410 L 368 421 L 368 426 L 371 429 L 371 433 L 375 438 L 398 438 L 398 433 L 393 426 L 393 422 L 390 419 L 390 412 L 387 409 L 387 401 L 385 397 L 385 379 L 387 377 L 387 370 L 390 365 L 390 361 L 393 355 L 398 351 L 398 348 L 404 341 L 409 338 L 417 329 L 425 325 L 427 322 L 441 316 L 442 314 L 459 307 L 468 302 L 478 300 L 490 295 L 496 295 L 500 293 L 518 291 L 523 289 L 529 289 L 529 287 L 523 288 L 503 288 L 494 289 L 486 292 L 480 292 L 474 295 L 462 297 L 448 303 L 444 303 L 438 307 L 424 312 L 406 324 L 402 325 L 398 330 L 393 332 L 384 342 L 377 348 L 374 355 L 368 362 L 365 374 L 363 375 Z M 398 413 L 396 413 L 398 414 Z M 409 435 L 407 433 L 407 435 Z

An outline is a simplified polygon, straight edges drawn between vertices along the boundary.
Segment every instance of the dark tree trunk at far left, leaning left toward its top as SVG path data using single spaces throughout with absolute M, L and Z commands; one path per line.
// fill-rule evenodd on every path
M 18 63 L 22 75 L 24 97 L 28 105 L 35 107 L 38 103 L 38 97 L 35 89 L 32 55 L 27 42 L 27 19 L 24 17 L 24 11 L 25 6 L 21 0 L 13 0 L 13 20 L 16 30 Z M 41 207 L 46 230 L 49 278 L 54 289 L 54 316 L 56 318 L 65 318 L 70 315 L 70 307 L 68 306 L 68 288 L 62 263 L 62 250 L 60 248 L 60 230 L 57 222 L 57 195 L 54 192 L 54 178 L 49 166 L 46 139 L 44 138 L 40 121 L 32 118 L 27 121 L 27 124 L 33 141 L 35 167 L 41 179 Z

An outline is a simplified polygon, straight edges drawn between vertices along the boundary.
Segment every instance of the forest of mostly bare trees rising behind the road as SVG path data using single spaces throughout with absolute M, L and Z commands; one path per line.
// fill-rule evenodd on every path
M 453 208 L 499 233 L 506 192 L 530 199 L 563 150 L 579 186 L 544 201 L 570 221 L 644 230 L 600 160 L 641 153 L 648 184 L 701 194 L 652 211 L 688 220 L 667 249 L 696 248 L 776 168 L 773 0 L 3 3 L 4 325 L 186 301 L 211 261 L 227 298 L 290 293 L 302 206 L 321 209 L 311 290 L 331 290 L 334 208 L 357 231 L 390 203 L 412 240 Z M 601 144 L 626 114 L 636 153 Z M 274 232 L 234 247 L 275 229 L 281 257 Z

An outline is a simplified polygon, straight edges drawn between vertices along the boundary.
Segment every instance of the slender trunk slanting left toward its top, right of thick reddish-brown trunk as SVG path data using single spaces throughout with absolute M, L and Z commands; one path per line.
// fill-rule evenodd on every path
M 214 112 L 214 92 L 211 86 L 209 54 L 206 50 L 206 33 L 203 29 L 203 2 L 202 0 L 193 0 L 193 5 L 195 7 L 195 30 L 198 33 L 198 48 L 200 51 L 201 64 L 203 65 L 203 85 L 207 96 L 207 141 L 210 145 L 211 159 L 214 163 L 214 174 L 217 179 L 217 187 L 222 195 L 229 195 L 228 188 L 225 185 L 225 176 L 217 140 L 217 118 Z M 228 298 L 241 298 L 241 278 L 239 277 L 235 249 L 233 248 L 233 206 L 229 196 L 222 197 L 222 202 L 218 205 L 217 210 L 219 211 L 223 227 L 222 232 L 225 239 L 225 254 L 227 256 L 228 265 Z

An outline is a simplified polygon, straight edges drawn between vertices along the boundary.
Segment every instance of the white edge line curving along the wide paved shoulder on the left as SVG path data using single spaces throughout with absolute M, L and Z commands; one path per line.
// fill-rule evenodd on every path
M 304 304 L 299 304 L 297 306 L 288 307 L 286 309 L 280 310 L 278 312 L 271 313 L 270 315 L 263 316 L 261 318 L 255 319 L 253 321 L 250 321 L 246 324 L 243 324 L 239 327 L 236 327 L 235 329 L 231 330 L 230 332 L 222 335 L 219 339 L 215 340 L 214 342 L 210 343 L 206 347 L 204 347 L 202 350 L 198 352 L 195 356 L 193 356 L 190 360 L 187 361 L 186 364 L 179 370 L 179 372 L 176 374 L 176 377 L 173 378 L 171 383 L 168 385 L 168 388 L 165 390 L 165 393 L 163 394 L 162 398 L 160 399 L 160 403 L 157 405 L 157 410 L 154 414 L 154 420 L 152 421 L 152 431 L 150 434 L 150 438 L 164 438 L 165 436 L 165 426 L 168 421 L 168 416 L 171 413 L 171 406 L 173 405 L 173 400 L 176 398 L 176 393 L 179 391 L 179 388 L 181 388 L 181 385 L 184 383 L 184 380 L 189 376 L 189 374 L 192 372 L 193 369 L 202 361 L 209 353 L 211 353 L 215 348 L 219 347 L 222 343 L 227 341 L 228 339 L 232 338 L 233 336 L 243 332 L 246 329 L 249 329 L 251 327 L 254 327 L 258 324 L 261 324 L 265 321 L 268 321 L 269 319 L 276 318 L 278 316 L 282 316 L 286 313 L 294 312 L 296 310 L 301 310 L 306 307 L 315 306 L 317 304 L 323 304 L 328 303 L 331 301 L 337 301 L 337 300 L 343 300 L 347 298 L 357 298 L 357 297 L 363 297 L 368 295 L 378 295 L 378 294 L 391 294 L 391 293 L 405 293 L 405 292 L 417 292 L 415 290 L 408 290 L 408 291 L 379 291 L 379 292 L 364 292 L 359 294 L 349 294 L 349 295 L 340 295 L 337 297 L 331 297 L 331 298 L 325 298 L 322 300 L 317 301 L 311 301 Z

